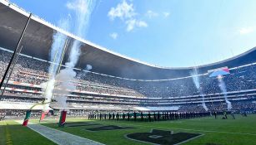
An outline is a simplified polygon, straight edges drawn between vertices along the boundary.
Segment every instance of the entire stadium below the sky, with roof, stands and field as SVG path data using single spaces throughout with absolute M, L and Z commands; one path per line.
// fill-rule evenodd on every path
M 0 70 L 0 144 L 256 144 L 256 47 L 161 67 L 0 0 Z

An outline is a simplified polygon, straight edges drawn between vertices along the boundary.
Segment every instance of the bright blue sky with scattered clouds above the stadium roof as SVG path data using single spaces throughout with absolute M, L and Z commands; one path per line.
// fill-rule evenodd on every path
M 71 1 L 79 0 L 10 2 L 58 26 Z M 152 65 L 205 65 L 256 46 L 255 0 L 94 2 L 83 38 Z

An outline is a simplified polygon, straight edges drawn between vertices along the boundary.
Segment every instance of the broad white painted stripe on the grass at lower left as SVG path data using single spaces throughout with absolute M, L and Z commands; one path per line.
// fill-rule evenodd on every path
M 23 121 L 16 122 L 23 123 Z M 103 145 L 103 143 L 78 137 L 57 129 L 48 128 L 40 124 L 29 123 L 28 128 L 31 128 L 33 131 L 41 134 L 43 137 L 48 138 L 49 140 L 53 141 L 53 143 L 57 143 L 58 145 Z

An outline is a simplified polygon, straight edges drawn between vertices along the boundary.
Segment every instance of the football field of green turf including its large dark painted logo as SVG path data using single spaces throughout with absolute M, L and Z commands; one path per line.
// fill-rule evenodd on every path
M 255 145 L 256 115 L 236 119 L 214 117 L 180 119 L 160 122 L 133 122 L 122 120 L 88 120 L 68 118 L 64 128 L 58 128 L 58 120 L 46 119 L 41 127 L 53 128 L 78 138 L 109 145 L 125 144 L 188 144 L 188 145 Z M 30 120 L 38 124 L 38 120 Z M 42 126 L 43 125 L 43 126 Z M 48 129 L 50 130 L 50 129 Z M 46 132 L 48 133 L 48 132 Z M 58 133 L 57 133 L 58 134 Z M 34 145 L 59 144 L 50 132 L 45 135 L 23 127 L 17 121 L 0 122 L 0 144 Z M 53 138 L 52 138 L 53 137 Z M 68 144 L 68 143 L 67 143 Z M 75 143 L 73 143 L 75 144 Z M 81 144 L 81 143 L 78 143 Z M 87 143 L 88 144 L 88 143 Z

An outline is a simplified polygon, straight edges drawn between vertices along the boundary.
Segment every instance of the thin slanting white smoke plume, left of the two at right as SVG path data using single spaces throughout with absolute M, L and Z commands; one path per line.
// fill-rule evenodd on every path
M 200 79 L 199 79 L 199 76 L 198 76 L 198 69 L 194 68 L 193 71 L 190 73 L 190 75 L 192 75 L 193 84 L 196 86 L 196 88 L 198 89 L 199 94 L 202 96 L 202 101 L 203 101 L 202 102 L 202 106 L 203 106 L 203 109 L 205 111 L 208 111 L 208 108 L 207 108 L 207 106 L 205 104 L 202 88 L 200 87 Z

